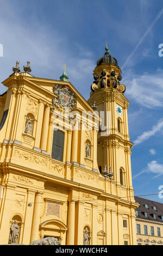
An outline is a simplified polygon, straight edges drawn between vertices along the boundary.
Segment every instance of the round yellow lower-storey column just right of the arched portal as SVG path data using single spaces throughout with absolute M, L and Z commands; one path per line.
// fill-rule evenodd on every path
M 74 228 L 75 228 L 75 201 L 69 203 L 68 209 L 68 239 L 67 245 L 74 245 Z

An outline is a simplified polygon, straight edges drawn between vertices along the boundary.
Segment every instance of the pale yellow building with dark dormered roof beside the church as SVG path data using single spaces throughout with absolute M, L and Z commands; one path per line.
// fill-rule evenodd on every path
M 163 245 L 163 204 L 135 197 L 137 245 Z

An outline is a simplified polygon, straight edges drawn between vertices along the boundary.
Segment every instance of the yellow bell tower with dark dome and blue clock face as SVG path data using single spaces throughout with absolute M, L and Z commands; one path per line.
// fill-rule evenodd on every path
M 96 104 L 102 120 L 97 141 L 98 168 L 103 174 L 104 164 L 108 170 L 111 167 L 116 196 L 123 197 L 123 190 L 126 190 L 125 199 L 134 201 L 130 161 L 133 143 L 128 133 L 129 101 L 124 96 L 126 87 L 120 82 L 122 76 L 117 60 L 110 55 L 107 45 L 105 51 L 93 71 L 95 81 L 88 100 L 90 105 Z

